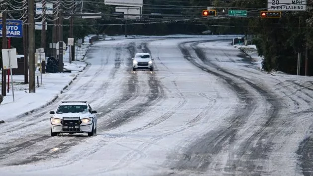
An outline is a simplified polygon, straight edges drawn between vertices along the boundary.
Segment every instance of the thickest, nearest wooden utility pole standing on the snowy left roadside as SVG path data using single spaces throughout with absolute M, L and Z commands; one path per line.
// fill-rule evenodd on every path
M 35 81 L 35 19 L 34 0 L 28 0 L 29 93 L 36 92 Z

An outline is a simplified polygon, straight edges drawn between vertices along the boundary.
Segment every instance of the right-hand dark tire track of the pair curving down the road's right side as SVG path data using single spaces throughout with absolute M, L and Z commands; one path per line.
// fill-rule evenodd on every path
M 267 170 L 264 168 L 265 171 L 263 171 L 262 166 L 259 166 L 258 163 L 254 163 L 251 161 L 255 161 L 263 159 L 268 159 L 268 153 L 270 153 L 271 146 L 273 144 L 274 135 L 277 131 L 268 130 L 269 127 L 273 125 L 273 120 L 279 118 L 279 111 L 282 109 L 281 103 L 276 99 L 276 95 L 273 95 L 270 93 L 270 91 L 261 88 L 252 82 L 248 81 L 246 78 L 237 76 L 233 73 L 230 73 L 217 65 L 214 65 L 210 63 L 209 60 L 205 57 L 205 54 L 203 53 L 202 49 L 196 48 L 195 52 L 197 56 L 207 65 L 211 65 L 214 68 L 219 68 L 221 72 L 224 72 L 230 76 L 233 76 L 235 78 L 239 78 L 243 82 L 245 82 L 248 86 L 256 90 L 267 102 L 267 104 L 270 105 L 270 108 L 266 109 L 266 122 L 264 125 L 259 128 L 257 131 L 253 133 L 247 140 L 245 140 L 244 144 L 241 145 L 241 148 L 239 149 L 239 152 L 235 153 L 233 155 L 233 158 L 229 160 L 229 171 L 231 173 L 234 173 L 235 171 L 241 171 L 243 173 L 266 173 Z M 264 141 L 266 140 L 266 144 L 264 144 Z M 242 160 L 242 158 L 247 158 L 246 161 Z M 262 163 L 261 163 L 262 164 Z M 243 167 L 243 168 L 242 168 Z M 240 168 L 240 169 L 239 169 Z M 246 170 L 247 169 L 247 170 Z M 224 170 L 227 171 L 227 170 Z

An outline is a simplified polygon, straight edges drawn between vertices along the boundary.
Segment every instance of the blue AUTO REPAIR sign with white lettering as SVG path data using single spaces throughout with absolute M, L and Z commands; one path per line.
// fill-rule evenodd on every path
M 2 37 L 2 20 L 0 20 L 0 37 Z M 6 20 L 6 37 L 23 37 L 23 20 Z

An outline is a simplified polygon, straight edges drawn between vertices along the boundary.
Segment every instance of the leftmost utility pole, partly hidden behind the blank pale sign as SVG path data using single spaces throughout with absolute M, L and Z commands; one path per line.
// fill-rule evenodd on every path
M 4 10 L 2 12 L 2 49 L 6 49 L 6 6 L 4 5 Z M 2 96 L 6 96 L 5 85 L 6 85 L 6 70 L 2 65 L 2 82 L 1 82 L 1 94 Z

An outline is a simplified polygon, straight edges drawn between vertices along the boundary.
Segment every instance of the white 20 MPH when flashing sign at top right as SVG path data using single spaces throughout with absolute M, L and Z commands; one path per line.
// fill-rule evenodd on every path
M 269 11 L 306 11 L 307 0 L 268 0 Z

